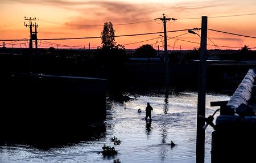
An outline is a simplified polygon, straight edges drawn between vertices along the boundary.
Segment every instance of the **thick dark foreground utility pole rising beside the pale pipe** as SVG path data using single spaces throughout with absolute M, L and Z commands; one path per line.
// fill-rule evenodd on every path
M 199 65 L 199 91 L 197 97 L 197 130 L 196 130 L 196 163 L 204 162 L 205 154 L 205 122 L 199 115 L 205 117 L 205 83 L 207 68 L 207 16 L 202 16 L 200 65 Z

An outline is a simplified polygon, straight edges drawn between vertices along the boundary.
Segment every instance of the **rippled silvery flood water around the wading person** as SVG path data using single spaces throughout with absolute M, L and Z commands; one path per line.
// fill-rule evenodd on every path
M 106 120 L 102 122 L 106 130 L 100 135 L 49 149 L 4 144 L 0 146 L 0 162 L 195 162 L 197 93 L 141 93 L 135 97 L 126 102 L 107 100 Z M 218 109 L 210 107 L 210 101 L 229 100 L 230 96 L 210 93 L 206 98 L 208 117 Z M 144 120 L 147 102 L 154 108 L 151 124 Z M 212 131 L 210 126 L 205 130 L 205 162 L 210 162 Z M 118 154 L 104 157 L 102 146 L 113 145 L 109 140 L 113 136 L 122 140 L 115 147 Z M 176 144 L 173 148 L 171 141 Z

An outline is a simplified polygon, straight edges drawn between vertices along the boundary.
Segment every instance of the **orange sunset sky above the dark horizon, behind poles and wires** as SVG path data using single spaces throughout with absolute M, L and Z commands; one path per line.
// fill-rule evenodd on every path
M 163 32 L 163 23 L 155 18 L 166 14 L 167 18 L 177 19 L 167 23 L 167 31 L 201 27 L 201 16 L 208 16 L 208 28 L 230 33 L 256 37 L 256 1 L 255 0 L 172 0 L 172 1 L 75 1 L 75 0 L 1 0 L 0 40 L 30 38 L 29 28 L 24 27 L 24 16 L 36 18 L 38 38 L 98 37 L 103 24 L 112 22 L 115 35 L 133 35 L 137 33 Z M 242 16 L 231 16 L 242 15 Z M 223 16 L 223 17 L 222 17 Z M 218 18 L 211 18 L 218 17 Z M 187 19 L 199 18 L 199 19 Z M 129 24 L 132 23 L 132 24 Z M 200 31 L 196 31 L 201 34 Z M 170 32 L 175 37 L 187 33 Z M 249 45 L 256 47 L 255 38 L 227 35 L 208 31 L 208 37 L 221 49 L 222 46 L 240 48 Z M 155 39 L 154 39 L 155 38 Z M 159 34 L 116 37 L 117 44 L 126 49 L 135 49 L 143 44 L 152 44 L 163 49 Z M 179 40 L 177 40 L 179 39 Z M 150 40 L 150 41 L 145 41 Z M 208 44 L 213 44 L 208 40 Z M 144 42 L 141 42 L 144 41 Z M 188 33 L 168 40 L 168 49 L 192 49 L 199 47 L 200 37 Z M 2 42 L 0 45 L 2 46 Z M 48 48 L 57 44 L 88 48 L 101 46 L 100 38 L 80 40 L 39 41 L 39 48 Z M 134 42 L 139 42 L 133 44 Z M 158 42 L 158 43 L 157 43 Z M 53 44 L 52 44 L 53 43 Z M 5 41 L 6 47 L 28 47 L 28 41 Z M 12 45 L 13 44 L 13 45 Z M 128 45 L 127 45 L 128 44 Z M 59 48 L 67 48 L 61 46 Z M 79 48 L 77 47 L 77 48 Z M 215 49 L 208 45 L 208 49 Z M 231 48 L 235 49 L 235 48 Z M 256 49 L 256 48 L 255 48 Z

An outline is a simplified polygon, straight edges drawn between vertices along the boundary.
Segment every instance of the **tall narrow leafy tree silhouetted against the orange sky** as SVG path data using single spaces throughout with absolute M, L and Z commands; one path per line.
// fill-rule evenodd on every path
M 101 32 L 101 44 L 103 49 L 113 49 L 115 42 L 115 30 L 111 22 L 105 22 Z

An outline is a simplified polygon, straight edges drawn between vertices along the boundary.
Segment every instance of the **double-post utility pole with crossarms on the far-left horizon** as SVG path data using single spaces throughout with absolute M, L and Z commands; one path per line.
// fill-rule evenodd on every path
M 35 48 L 36 50 L 38 49 L 38 32 L 37 32 L 37 27 L 38 25 L 35 24 L 32 24 L 32 21 L 36 20 L 36 18 L 27 18 L 26 16 L 24 17 L 25 20 L 30 20 L 30 24 L 26 24 L 26 22 L 24 22 L 24 25 L 26 27 L 29 27 L 30 28 L 30 50 L 33 49 L 33 40 L 35 40 Z M 35 32 L 32 31 L 32 27 L 35 28 Z

